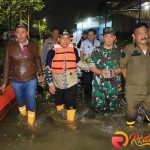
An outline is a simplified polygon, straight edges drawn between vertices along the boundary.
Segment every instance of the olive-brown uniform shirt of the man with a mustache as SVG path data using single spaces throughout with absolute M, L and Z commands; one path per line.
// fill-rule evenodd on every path
M 142 49 L 135 44 L 128 44 L 123 49 L 120 60 L 120 67 L 126 69 L 126 84 L 135 85 L 138 94 L 144 93 L 143 89 L 146 87 L 146 93 L 150 92 L 150 45 L 146 55 Z

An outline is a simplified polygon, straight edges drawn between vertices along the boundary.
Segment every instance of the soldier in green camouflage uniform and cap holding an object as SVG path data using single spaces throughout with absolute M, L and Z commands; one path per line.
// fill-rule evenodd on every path
M 112 112 L 116 108 L 118 88 L 121 85 L 121 50 L 114 44 L 116 36 L 113 28 L 104 28 L 103 40 L 104 44 L 91 55 L 90 67 L 94 72 L 92 107 L 96 112 Z

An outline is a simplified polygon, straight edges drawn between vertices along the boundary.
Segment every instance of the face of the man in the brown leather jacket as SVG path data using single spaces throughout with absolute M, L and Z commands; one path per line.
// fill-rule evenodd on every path
M 28 36 L 28 31 L 25 28 L 17 28 L 15 35 L 19 43 L 24 43 Z

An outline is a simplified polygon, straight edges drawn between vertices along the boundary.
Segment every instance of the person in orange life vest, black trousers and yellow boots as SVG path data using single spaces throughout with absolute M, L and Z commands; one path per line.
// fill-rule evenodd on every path
M 59 44 L 47 54 L 46 83 L 55 94 L 57 111 L 67 110 L 67 120 L 73 122 L 76 114 L 77 66 L 88 70 L 89 65 L 80 61 L 78 51 L 70 44 L 70 35 L 64 31 Z

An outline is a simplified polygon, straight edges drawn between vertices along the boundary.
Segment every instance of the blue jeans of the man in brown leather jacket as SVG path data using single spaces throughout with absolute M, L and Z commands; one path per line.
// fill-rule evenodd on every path
M 12 81 L 19 107 L 26 106 L 27 110 L 35 112 L 37 79 L 27 82 Z

